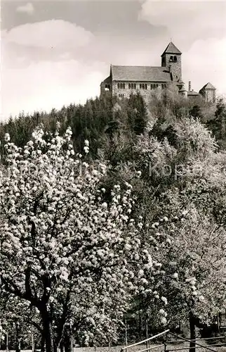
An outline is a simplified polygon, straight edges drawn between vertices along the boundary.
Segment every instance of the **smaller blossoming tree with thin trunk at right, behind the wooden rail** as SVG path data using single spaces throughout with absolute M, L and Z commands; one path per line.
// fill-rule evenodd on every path
M 145 303 L 150 314 L 159 310 L 169 327 L 188 321 L 190 348 L 194 348 L 197 322 L 211 324 L 225 309 L 226 237 L 223 227 L 192 204 L 182 213 L 180 221 L 178 217 L 168 219 L 167 226 L 159 223 L 155 231 L 154 236 L 163 239 L 158 251 L 162 271 L 155 296 Z M 166 297 L 165 310 L 158 308 L 159 297 Z

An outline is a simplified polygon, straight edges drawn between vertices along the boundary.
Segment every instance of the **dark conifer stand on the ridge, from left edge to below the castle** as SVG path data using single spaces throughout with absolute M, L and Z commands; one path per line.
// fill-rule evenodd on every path
M 111 140 L 114 134 L 124 134 L 131 139 L 143 132 L 147 123 L 147 107 L 141 96 L 131 96 L 123 102 L 116 98 L 90 99 L 83 105 L 70 104 L 59 111 L 53 109 L 50 113 L 34 112 L 33 115 L 20 113 L 16 118 L 1 122 L 0 138 L 10 134 L 11 142 L 18 146 L 25 145 L 32 137 L 32 132 L 42 125 L 45 132 L 55 132 L 60 125 L 60 134 L 67 127 L 72 127 L 74 147 L 81 152 L 84 140 L 91 144 L 91 156 L 98 155 L 106 139 Z M 1 151 L 4 153 L 4 151 Z

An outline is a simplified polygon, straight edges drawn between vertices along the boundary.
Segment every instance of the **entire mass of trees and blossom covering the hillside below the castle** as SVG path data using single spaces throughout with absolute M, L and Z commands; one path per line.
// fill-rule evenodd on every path
M 133 337 L 147 318 L 209 322 L 225 307 L 224 112 L 204 125 L 213 109 L 169 89 L 2 123 L 6 315 L 27 305 L 48 351 L 116 343 L 123 317 Z

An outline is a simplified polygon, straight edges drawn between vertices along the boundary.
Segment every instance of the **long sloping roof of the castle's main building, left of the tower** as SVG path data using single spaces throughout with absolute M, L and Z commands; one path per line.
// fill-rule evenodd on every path
M 164 67 L 112 65 L 113 81 L 171 82 Z

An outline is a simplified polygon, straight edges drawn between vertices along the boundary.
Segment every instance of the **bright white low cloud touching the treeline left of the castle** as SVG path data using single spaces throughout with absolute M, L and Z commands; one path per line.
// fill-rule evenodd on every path
M 100 65 L 84 65 L 75 60 L 41 61 L 27 67 L 3 71 L 2 118 L 36 111 L 50 111 L 63 104 L 84 103 L 100 94 L 100 82 L 105 78 Z

